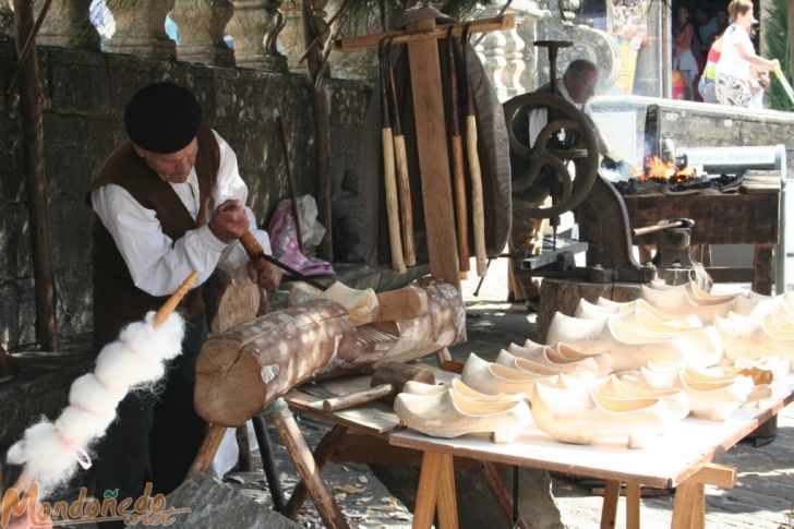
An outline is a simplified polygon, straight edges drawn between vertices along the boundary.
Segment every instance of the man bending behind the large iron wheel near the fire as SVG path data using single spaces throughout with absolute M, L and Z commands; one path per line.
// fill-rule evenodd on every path
M 630 166 L 615 153 L 599 130 L 598 124 L 593 120 L 592 109 L 588 101 L 596 95 L 596 86 L 599 83 L 599 70 L 596 64 L 585 59 L 577 59 L 568 64 L 562 80 L 556 83 L 556 93 L 554 95 L 562 97 L 566 101 L 574 105 L 585 116 L 585 120 L 590 124 L 599 154 L 602 156 L 601 164 L 606 168 L 618 171 L 624 175 L 630 173 Z M 551 83 L 538 88 L 536 93 L 549 94 L 552 92 Z M 536 108 L 528 113 L 528 127 L 526 129 L 526 137 L 517 139 L 525 145 L 533 145 L 538 134 L 549 122 L 548 112 L 544 108 Z M 568 132 L 570 134 L 570 132 Z M 549 140 L 552 148 L 566 148 L 570 144 L 570 137 L 566 139 L 566 131 L 552 135 Z M 551 144 L 554 145 L 551 145 Z M 512 160 L 513 178 L 519 178 L 526 170 L 519 160 Z M 541 207 L 549 199 L 551 183 L 553 179 L 550 168 L 545 167 L 541 170 L 538 180 L 524 190 L 520 194 L 514 193 L 514 200 L 527 203 L 530 207 Z M 548 219 L 525 218 L 516 213 L 513 214 L 513 229 L 510 231 L 509 253 L 515 250 L 526 250 L 530 255 L 537 255 L 542 251 L 543 231 L 549 224 Z M 530 309 L 536 308 L 540 296 L 538 281 L 529 276 L 516 277 L 513 268 L 508 267 L 508 300 L 525 301 Z

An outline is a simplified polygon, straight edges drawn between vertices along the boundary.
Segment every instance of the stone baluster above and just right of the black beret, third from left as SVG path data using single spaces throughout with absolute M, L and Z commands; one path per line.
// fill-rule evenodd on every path
M 177 59 L 233 67 L 234 52 L 224 40 L 232 11 L 230 0 L 176 0 L 171 19 L 179 26 Z

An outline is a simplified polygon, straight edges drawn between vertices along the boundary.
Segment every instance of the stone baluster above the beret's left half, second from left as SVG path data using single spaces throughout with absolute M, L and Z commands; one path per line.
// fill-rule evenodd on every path
M 175 0 L 107 0 L 116 20 L 116 33 L 103 44 L 103 51 L 173 60 L 177 48 L 166 35 L 166 15 Z

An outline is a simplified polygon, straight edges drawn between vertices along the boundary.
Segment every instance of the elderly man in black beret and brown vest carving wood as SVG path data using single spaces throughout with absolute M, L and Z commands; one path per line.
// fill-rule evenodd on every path
M 101 164 L 86 197 L 95 214 L 96 351 L 125 323 L 157 308 L 192 270 L 198 285 L 216 268 L 244 273 L 248 257 L 237 239 L 246 230 L 269 252 L 267 233 L 255 229 L 244 206 L 248 188 L 234 152 L 202 123 L 189 89 L 173 83 L 142 88 L 127 107 L 124 125 L 129 141 Z M 278 268 L 267 266 L 256 280 L 273 290 L 280 277 Z M 183 351 L 165 387 L 155 396 L 129 395 L 97 449 L 98 497 L 118 490 L 119 501 L 134 500 L 145 481 L 168 493 L 195 457 L 206 428 L 193 409 L 195 360 L 206 338 L 201 288 L 185 298 L 183 310 L 189 320 Z M 144 474 L 147 469 L 151 476 Z

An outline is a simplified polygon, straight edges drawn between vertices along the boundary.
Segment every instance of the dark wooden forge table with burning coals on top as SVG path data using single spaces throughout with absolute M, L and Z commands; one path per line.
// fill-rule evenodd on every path
M 711 268 L 709 273 L 717 281 L 751 280 L 756 292 L 769 294 L 774 284 L 773 249 L 780 237 L 780 173 L 748 175 L 751 178 L 746 178 L 738 193 L 625 195 L 630 226 L 651 226 L 663 218 L 691 218 L 693 244 L 754 244 L 753 268 Z M 634 238 L 634 243 L 643 240 Z

